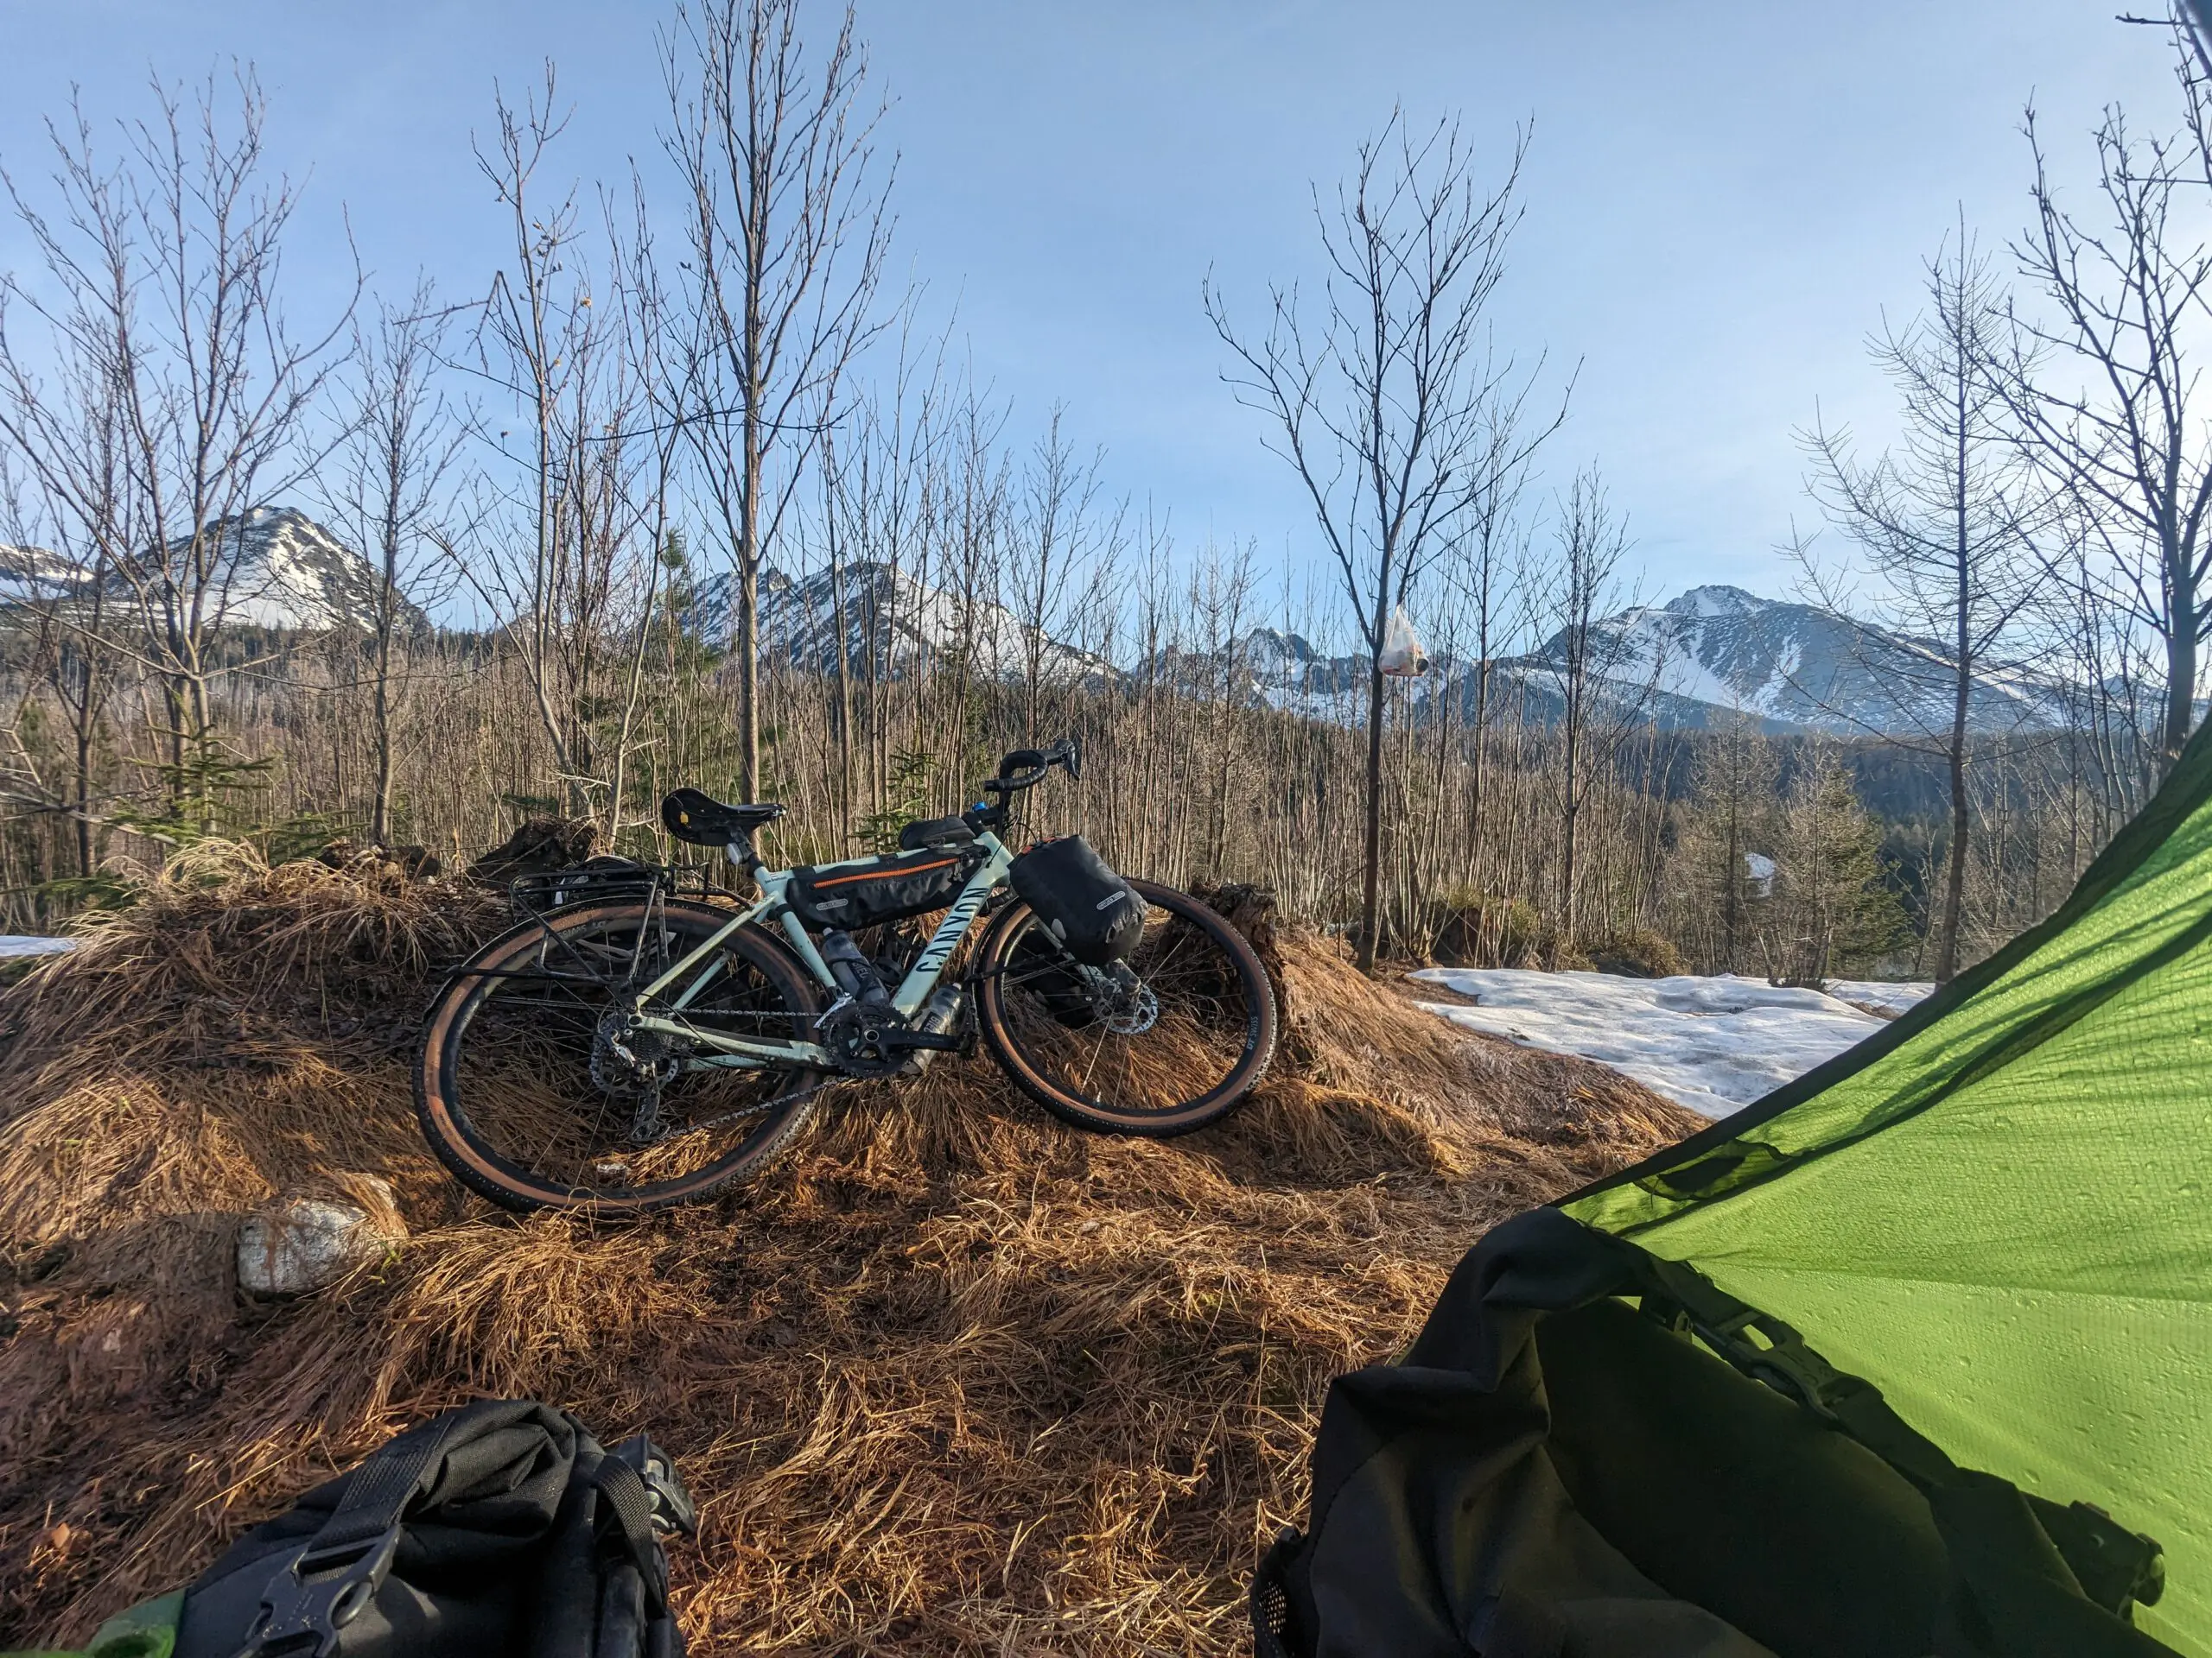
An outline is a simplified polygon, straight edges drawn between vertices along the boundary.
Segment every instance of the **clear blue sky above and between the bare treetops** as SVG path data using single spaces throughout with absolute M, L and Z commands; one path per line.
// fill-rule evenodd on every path
M 1201 279 L 1252 309 L 1270 279 L 1310 276 L 1310 181 L 1334 181 L 1394 104 L 1464 113 L 1500 164 L 1533 122 L 1498 323 L 1524 356 L 1582 365 L 1553 469 L 1599 462 L 1648 595 L 1781 595 L 1774 546 L 1816 522 L 1792 431 L 1818 400 L 1882 436 L 1865 334 L 1913 305 L 1960 208 L 1993 245 L 2024 221 L 2022 104 L 2068 168 L 2108 99 L 2170 119 L 2166 40 L 2115 9 L 863 0 L 860 31 L 896 99 L 898 267 L 938 316 L 958 298 L 1015 429 L 1066 405 L 1117 493 L 1183 542 L 1252 537 L 1270 557 L 1310 557 L 1314 533 L 1219 380 Z M 473 294 L 500 254 L 469 161 L 493 80 L 551 55 L 575 104 L 562 164 L 619 177 L 655 155 L 661 18 L 635 0 L 0 0 L 0 161 L 42 170 L 38 117 L 71 84 L 108 117 L 144 108 L 148 73 L 250 57 L 276 157 L 310 190 L 299 307 L 341 272 L 341 208 L 387 285 L 420 265 Z M 22 252 L 0 230 L 0 263 Z

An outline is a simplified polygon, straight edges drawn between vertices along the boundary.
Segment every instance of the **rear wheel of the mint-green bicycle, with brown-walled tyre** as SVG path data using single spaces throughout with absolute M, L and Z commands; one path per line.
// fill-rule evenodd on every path
M 431 1152 L 509 1209 L 644 1211 L 759 1174 L 805 1125 L 821 1072 L 701 1068 L 697 1043 L 626 1032 L 650 984 L 730 922 L 686 902 L 575 904 L 467 962 L 431 1004 L 416 1112 Z M 741 926 L 646 1012 L 697 1030 L 807 1041 L 812 982 Z

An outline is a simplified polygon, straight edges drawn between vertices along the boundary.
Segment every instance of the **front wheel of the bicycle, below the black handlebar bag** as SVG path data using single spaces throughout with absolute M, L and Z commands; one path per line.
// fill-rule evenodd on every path
M 1228 1116 L 1274 1057 L 1274 988 L 1243 933 L 1148 880 L 1144 935 L 1102 977 L 1029 904 L 998 915 L 975 962 L 991 1054 L 1053 1116 L 1104 1134 L 1188 1134 Z

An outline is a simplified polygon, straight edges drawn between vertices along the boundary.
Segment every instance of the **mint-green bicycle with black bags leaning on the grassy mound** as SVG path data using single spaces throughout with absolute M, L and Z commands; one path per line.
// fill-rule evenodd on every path
M 1015 800 L 1055 767 L 1079 778 L 1079 745 L 1015 749 L 984 800 L 909 822 L 898 853 L 803 869 L 754 849 L 781 805 L 677 789 L 668 831 L 728 851 L 759 900 L 688 895 L 677 871 L 628 862 L 544 878 L 535 913 L 431 1001 L 416 1063 L 431 1152 L 511 1209 L 692 1203 L 770 1167 L 825 1090 L 914 1077 L 978 1032 L 1075 1127 L 1217 1123 L 1274 1057 L 1267 970 L 1212 909 L 1115 875 L 1079 836 L 1011 851 Z

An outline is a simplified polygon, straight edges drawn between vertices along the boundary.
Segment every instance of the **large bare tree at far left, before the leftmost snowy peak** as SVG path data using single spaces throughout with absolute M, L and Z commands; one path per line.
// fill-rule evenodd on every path
M 0 279 L 7 307 L 42 323 L 55 356 L 75 360 L 71 374 L 113 398 L 128 506 L 86 497 L 102 471 L 86 455 L 86 427 L 73 405 L 38 396 L 38 371 L 7 332 L 0 438 L 46 491 L 73 502 L 137 610 L 137 654 L 161 683 L 170 818 L 177 831 L 206 833 L 232 772 L 217 738 L 212 683 L 223 670 L 210 648 L 243 597 L 248 515 L 314 466 L 305 422 L 352 301 L 325 332 L 296 336 L 288 325 L 279 274 L 299 195 L 268 179 L 268 104 L 252 71 L 237 73 L 228 119 L 212 77 L 190 104 L 159 82 L 153 95 L 155 117 L 126 128 L 119 164 L 100 157 L 82 111 L 49 128 L 58 217 L 7 177 L 46 283 Z

